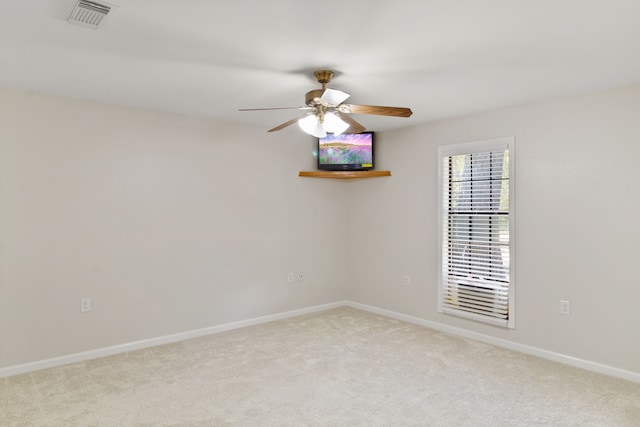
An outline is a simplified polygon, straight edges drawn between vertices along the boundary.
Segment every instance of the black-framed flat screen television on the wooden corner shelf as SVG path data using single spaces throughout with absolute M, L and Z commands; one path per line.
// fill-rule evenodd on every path
M 373 169 L 373 132 L 327 134 L 318 138 L 318 169 L 353 171 Z

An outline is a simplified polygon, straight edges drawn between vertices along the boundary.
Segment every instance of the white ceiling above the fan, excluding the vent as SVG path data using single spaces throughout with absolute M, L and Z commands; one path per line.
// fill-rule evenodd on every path
M 640 82 L 640 0 L 111 0 L 98 30 L 75 0 L 0 2 L 0 87 L 265 127 L 329 68 L 370 130 Z M 293 127 L 292 127 L 293 128 Z M 291 129 L 283 132 L 291 132 Z

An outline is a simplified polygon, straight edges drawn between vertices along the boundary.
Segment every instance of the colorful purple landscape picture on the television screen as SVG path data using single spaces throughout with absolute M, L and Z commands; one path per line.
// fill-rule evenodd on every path
M 318 147 L 320 164 L 364 165 L 373 163 L 371 134 L 327 135 Z

